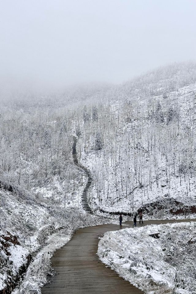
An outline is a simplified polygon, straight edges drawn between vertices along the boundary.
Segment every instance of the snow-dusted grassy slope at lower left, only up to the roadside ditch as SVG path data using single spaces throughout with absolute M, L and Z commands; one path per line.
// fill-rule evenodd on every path
M 33 199 L 33 198 L 32 198 Z M 1 288 L 13 289 L 32 255 L 60 226 L 47 205 L 1 190 Z

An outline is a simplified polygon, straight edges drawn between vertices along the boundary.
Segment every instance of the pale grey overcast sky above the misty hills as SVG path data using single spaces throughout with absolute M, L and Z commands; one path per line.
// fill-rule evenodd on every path
M 196 0 L 0 0 L 1 84 L 121 83 L 196 60 Z

